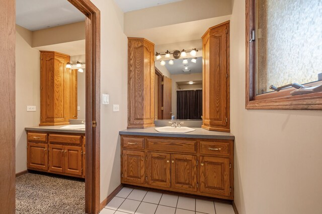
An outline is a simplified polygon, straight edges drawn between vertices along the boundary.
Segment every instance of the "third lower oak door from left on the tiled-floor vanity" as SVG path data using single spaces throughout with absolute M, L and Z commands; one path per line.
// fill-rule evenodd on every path
M 197 156 L 171 154 L 171 187 L 197 191 Z

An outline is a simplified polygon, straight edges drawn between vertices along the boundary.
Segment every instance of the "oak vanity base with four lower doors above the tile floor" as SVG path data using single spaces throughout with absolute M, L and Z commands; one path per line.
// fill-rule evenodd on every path
M 121 135 L 124 184 L 233 199 L 233 140 Z

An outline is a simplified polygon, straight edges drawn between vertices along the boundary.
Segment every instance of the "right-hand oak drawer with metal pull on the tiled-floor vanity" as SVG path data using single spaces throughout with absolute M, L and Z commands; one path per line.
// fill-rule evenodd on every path
M 206 142 L 200 141 L 200 153 L 201 154 L 220 154 L 230 155 L 229 142 Z

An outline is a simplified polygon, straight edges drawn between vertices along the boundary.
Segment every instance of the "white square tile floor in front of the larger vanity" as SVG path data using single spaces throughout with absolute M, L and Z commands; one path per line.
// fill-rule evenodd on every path
M 234 214 L 232 206 L 212 200 L 123 187 L 101 214 Z

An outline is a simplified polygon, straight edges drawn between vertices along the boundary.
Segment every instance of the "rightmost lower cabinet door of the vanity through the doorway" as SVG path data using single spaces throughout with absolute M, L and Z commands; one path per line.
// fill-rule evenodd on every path
M 64 146 L 65 173 L 82 175 L 82 147 Z

